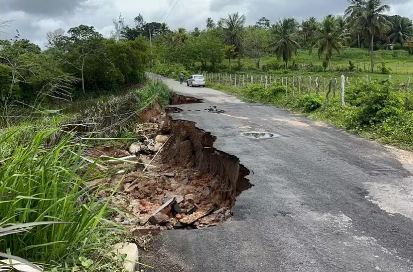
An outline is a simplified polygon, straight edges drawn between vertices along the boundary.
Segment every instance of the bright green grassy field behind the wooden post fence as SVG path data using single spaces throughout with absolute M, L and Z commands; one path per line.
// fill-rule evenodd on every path
M 269 73 L 279 76 L 290 76 L 293 75 L 308 75 L 308 76 L 320 76 L 323 78 L 338 77 L 342 74 L 348 76 L 349 78 L 369 77 L 376 80 L 386 80 L 389 74 L 392 75 L 393 80 L 400 83 L 405 83 L 408 77 L 413 76 L 413 56 L 409 55 L 407 51 L 395 50 L 386 51 L 378 50 L 374 52 L 375 55 L 375 72 L 370 71 L 370 56 L 367 49 L 357 49 L 348 48 L 342 51 L 340 54 L 334 52 L 332 58 L 332 68 L 324 70 L 322 68 L 323 62 L 325 60 L 324 56 L 319 57 L 317 51 L 314 50 L 309 52 L 308 50 L 299 50 L 298 56 L 294 56 L 292 61 L 289 63 L 291 66 L 293 63 L 297 64 L 295 70 L 292 69 L 275 69 L 276 66 L 282 66 L 281 60 L 277 60 L 274 55 L 265 55 L 260 60 L 260 69 L 256 68 L 254 59 L 246 57 L 243 62 L 241 70 L 237 70 L 236 61 L 232 62 L 232 73 L 241 74 L 264 74 Z M 354 65 L 354 71 L 350 72 L 349 61 Z M 388 73 L 382 72 L 382 63 L 385 64 L 385 68 L 388 69 Z M 316 68 L 312 70 L 308 68 L 310 65 Z M 229 72 L 228 60 L 224 60 L 219 66 L 219 70 L 225 73 Z M 273 68 L 273 69 L 271 69 Z

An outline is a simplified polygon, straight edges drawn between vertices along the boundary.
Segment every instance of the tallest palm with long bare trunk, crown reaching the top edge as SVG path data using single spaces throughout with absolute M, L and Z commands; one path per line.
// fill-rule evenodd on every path
M 390 22 L 383 13 L 390 10 L 390 6 L 382 5 L 382 0 L 351 0 L 345 14 L 353 17 L 353 23 L 363 26 L 370 37 L 371 72 L 374 72 L 374 37 L 386 33 Z

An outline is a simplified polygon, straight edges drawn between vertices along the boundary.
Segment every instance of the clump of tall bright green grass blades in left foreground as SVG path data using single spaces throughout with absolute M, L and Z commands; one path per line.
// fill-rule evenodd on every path
M 91 193 L 85 183 L 96 175 L 94 163 L 82 156 L 85 145 L 72 142 L 73 134 L 66 134 L 56 145 L 47 144 L 58 131 L 59 127 L 45 127 L 28 141 L 21 140 L 20 128 L 0 133 L 0 142 L 6 144 L 0 161 L 0 195 L 9 195 L 0 201 L 0 227 L 68 222 L 39 226 L 0 241 L 1 250 L 10 249 L 33 261 L 59 262 L 73 252 L 99 246 L 94 237 L 107 227 L 104 218 L 110 213 L 108 200 L 98 199 L 100 190 Z

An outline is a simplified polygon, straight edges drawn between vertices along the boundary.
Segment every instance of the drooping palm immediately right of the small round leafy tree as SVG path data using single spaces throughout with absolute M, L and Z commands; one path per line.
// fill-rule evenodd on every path
M 282 57 L 286 68 L 293 55 L 298 55 L 300 45 L 297 42 L 297 28 L 298 23 L 292 18 L 280 20 L 273 26 L 275 42 L 272 45 L 275 46 L 277 57 Z

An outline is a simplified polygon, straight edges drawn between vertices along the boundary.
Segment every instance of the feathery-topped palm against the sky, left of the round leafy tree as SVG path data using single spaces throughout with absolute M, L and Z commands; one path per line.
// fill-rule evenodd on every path
M 228 18 L 224 18 L 223 20 L 224 42 L 227 45 L 234 45 L 238 51 L 241 51 L 245 15 L 240 16 L 238 12 L 228 14 Z

